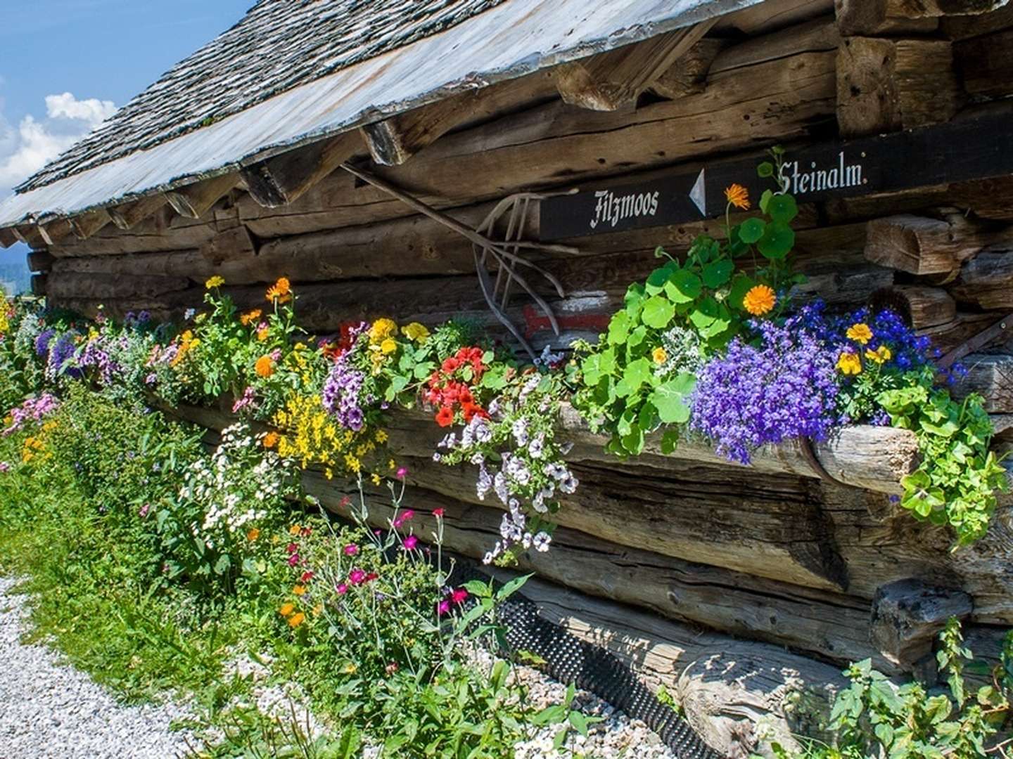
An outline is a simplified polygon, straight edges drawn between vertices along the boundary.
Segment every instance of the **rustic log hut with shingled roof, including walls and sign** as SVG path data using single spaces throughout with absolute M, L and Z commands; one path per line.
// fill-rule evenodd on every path
M 497 325 L 476 262 L 509 241 L 561 285 L 532 283 L 558 336 L 528 292 L 496 306 L 537 349 L 600 331 L 655 246 L 716 230 L 720 188 L 780 144 L 806 290 L 903 305 L 970 367 L 1001 445 L 1011 50 L 1006 0 L 260 0 L 0 204 L 0 244 L 28 243 L 34 292 L 85 313 L 171 318 L 212 275 L 242 303 L 286 274 L 322 333 Z M 729 753 L 765 721 L 814 730 L 848 661 L 931 678 L 948 615 L 983 653 L 1013 623 L 1013 511 L 950 554 L 889 500 L 909 433 L 743 468 L 693 445 L 620 461 L 570 426 L 582 487 L 528 590 Z M 394 418 L 416 502 L 480 556 L 500 512 L 430 460 L 435 436 Z M 342 485 L 306 482 L 339 508 Z

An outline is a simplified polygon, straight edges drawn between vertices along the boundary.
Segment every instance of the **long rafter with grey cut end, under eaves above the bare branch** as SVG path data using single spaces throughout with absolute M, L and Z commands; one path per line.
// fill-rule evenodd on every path
M 443 98 L 362 128 L 370 155 L 397 166 L 448 132 L 531 107 L 556 95 L 554 72 L 538 72 Z

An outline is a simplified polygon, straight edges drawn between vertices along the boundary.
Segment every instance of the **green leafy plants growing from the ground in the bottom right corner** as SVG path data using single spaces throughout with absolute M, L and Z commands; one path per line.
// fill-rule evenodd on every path
M 962 670 L 970 659 L 960 624 L 950 619 L 940 635 L 937 660 L 947 687 L 929 690 L 919 682 L 897 686 L 866 659 L 845 671 L 851 686 L 834 702 L 830 728 L 836 745 L 809 742 L 806 759 L 975 759 L 987 756 L 993 739 L 1010 716 L 1013 636 L 1006 639 L 993 682 L 973 694 L 966 691 Z M 775 752 L 789 754 L 781 747 Z

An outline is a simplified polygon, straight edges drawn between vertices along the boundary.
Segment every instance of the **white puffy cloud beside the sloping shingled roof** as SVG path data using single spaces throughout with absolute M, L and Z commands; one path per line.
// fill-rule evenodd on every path
M 14 128 L 0 100 L 0 196 L 115 112 L 109 100 L 78 100 L 70 92 L 46 96 L 46 116 L 25 115 Z

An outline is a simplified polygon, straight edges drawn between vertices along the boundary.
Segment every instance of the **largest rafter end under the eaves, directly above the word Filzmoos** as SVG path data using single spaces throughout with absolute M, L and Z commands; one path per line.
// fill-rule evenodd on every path
M 710 30 L 715 20 L 563 64 L 556 72 L 559 95 L 570 105 L 591 110 L 618 110 L 633 105 L 641 92 Z

